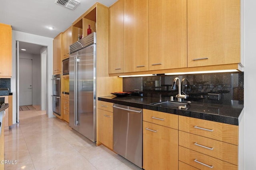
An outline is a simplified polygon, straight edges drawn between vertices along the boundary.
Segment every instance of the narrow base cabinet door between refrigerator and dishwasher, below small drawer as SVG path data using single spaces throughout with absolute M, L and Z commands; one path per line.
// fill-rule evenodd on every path
M 98 109 L 98 141 L 113 149 L 113 113 Z

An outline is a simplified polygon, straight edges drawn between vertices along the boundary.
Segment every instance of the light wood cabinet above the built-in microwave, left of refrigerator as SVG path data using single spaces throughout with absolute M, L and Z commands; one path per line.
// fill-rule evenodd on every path
M 69 57 L 69 45 L 72 44 L 72 26 L 62 33 L 62 59 Z

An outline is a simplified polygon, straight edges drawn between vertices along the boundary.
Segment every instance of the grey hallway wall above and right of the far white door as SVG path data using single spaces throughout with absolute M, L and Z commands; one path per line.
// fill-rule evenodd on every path
M 22 59 L 32 59 L 32 104 L 40 105 L 41 95 L 41 61 L 40 55 L 32 55 L 28 53 L 20 53 Z M 22 70 L 20 70 L 22 71 Z

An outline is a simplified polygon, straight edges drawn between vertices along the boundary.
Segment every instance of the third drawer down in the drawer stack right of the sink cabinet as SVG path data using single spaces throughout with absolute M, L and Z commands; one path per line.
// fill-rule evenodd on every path
M 179 160 L 200 170 L 237 170 L 238 166 L 179 146 Z

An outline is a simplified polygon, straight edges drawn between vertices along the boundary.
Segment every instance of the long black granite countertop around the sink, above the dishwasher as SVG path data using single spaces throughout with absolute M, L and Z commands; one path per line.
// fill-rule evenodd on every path
M 242 104 L 238 101 L 230 101 L 230 104 L 210 104 L 203 102 L 191 102 L 186 108 L 174 109 L 170 107 L 156 106 L 154 103 L 165 102 L 166 99 L 148 98 L 142 96 L 104 96 L 98 97 L 98 100 L 122 104 L 126 106 L 138 107 L 142 109 L 150 109 L 176 115 L 194 117 L 198 119 L 227 123 L 230 125 L 239 125 L 243 115 Z

